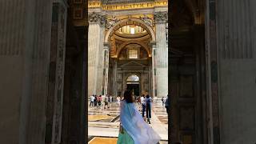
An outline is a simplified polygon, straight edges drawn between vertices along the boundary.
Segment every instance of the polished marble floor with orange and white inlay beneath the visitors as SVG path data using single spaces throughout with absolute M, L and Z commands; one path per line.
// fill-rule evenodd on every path
M 141 106 L 138 106 L 141 111 Z M 109 108 L 104 109 L 104 106 L 90 106 L 88 109 L 88 135 L 91 144 L 117 142 L 119 130 L 119 106 L 117 102 L 110 104 Z M 152 128 L 162 138 L 161 143 L 167 143 L 168 140 L 168 118 L 166 109 L 162 103 L 153 103 L 152 107 Z

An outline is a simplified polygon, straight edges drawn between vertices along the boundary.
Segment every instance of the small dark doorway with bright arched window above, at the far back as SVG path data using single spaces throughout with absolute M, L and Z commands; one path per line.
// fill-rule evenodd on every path
M 134 96 L 140 95 L 140 78 L 136 74 L 131 74 L 126 79 L 127 90 L 131 90 Z

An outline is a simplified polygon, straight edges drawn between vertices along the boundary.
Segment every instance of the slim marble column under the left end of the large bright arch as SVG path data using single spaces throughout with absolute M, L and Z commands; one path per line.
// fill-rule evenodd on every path
M 107 94 L 107 87 L 108 87 L 108 74 L 109 74 L 109 46 L 104 46 L 104 92 L 103 94 Z

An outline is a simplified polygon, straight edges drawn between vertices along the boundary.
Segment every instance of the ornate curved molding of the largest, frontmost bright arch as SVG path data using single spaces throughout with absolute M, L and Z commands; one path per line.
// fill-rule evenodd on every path
M 154 30 L 152 29 L 152 27 L 147 25 L 145 22 L 143 22 L 141 19 L 138 19 L 138 18 L 125 18 L 125 19 L 122 19 L 122 20 L 116 22 L 114 24 L 114 26 L 112 26 L 107 31 L 104 42 L 105 43 L 109 42 L 109 39 L 110 39 L 111 35 L 114 33 L 115 30 L 118 30 L 122 26 L 131 25 L 131 24 L 141 26 L 143 29 L 145 29 L 150 34 L 151 41 L 155 42 Z

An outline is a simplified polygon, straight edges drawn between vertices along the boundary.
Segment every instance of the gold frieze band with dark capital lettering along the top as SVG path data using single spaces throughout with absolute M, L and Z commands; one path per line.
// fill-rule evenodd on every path
M 155 2 L 140 2 L 140 3 L 118 3 L 118 4 L 102 4 L 100 1 L 88 2 L 89 8 L 102 7 L 103 10 L 130 10 L 153 8 L 156 6 L 168 6 L 168 0 L 160 0 Z

